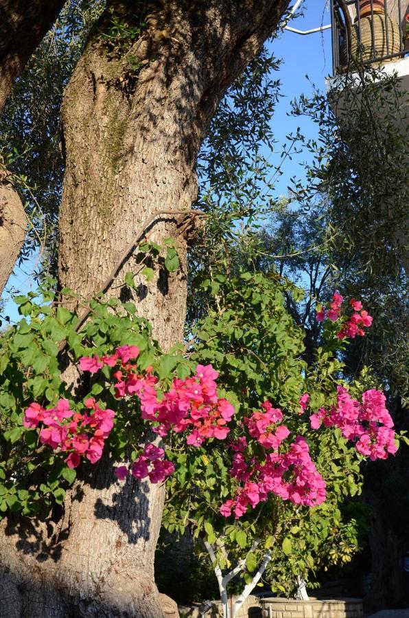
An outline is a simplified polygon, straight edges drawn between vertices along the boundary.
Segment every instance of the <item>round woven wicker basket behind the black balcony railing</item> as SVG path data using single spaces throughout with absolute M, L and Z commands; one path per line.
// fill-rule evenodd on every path
M 375 46 L 372 44 L 372 28 Z M 387 40 L 386 28 L 388 30 Z M 361 36 L 359 36 L 359 34 Z M 401 30 L 398 23 L 390 19 L 390 17 L 387 17 L 385 20 L 384 14 L 375 13 L 373 15 L 373 21 L 371 16 L 362 17 L 359 22 L 358 19 L 356 19 L 353 24 L 351 52 L 358 60 L 365 61 L 381 56 L 389 56 L 390 54 L 397 54 L 400 51 L 400 42 Z M 395 60 L 395 58 L 382 60 L 382 64 L 390 62 L 391 60 Z M 347 49 L 345 45 L 342 49 L 342 62 L 344 65 L 347 65 Z

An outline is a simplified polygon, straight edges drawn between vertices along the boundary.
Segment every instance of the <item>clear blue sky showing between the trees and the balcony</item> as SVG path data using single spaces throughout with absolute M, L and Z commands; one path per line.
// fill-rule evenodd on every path
M 292 27 L 299 30 L 309 30 L 330 23 L 329 10 L 326 7 L 325 0 L 304 0 L 303 15 L 292 19 Z M 272 43 L 269 43 L 274 56 L 283 58 L 283 62 L 279 69 L 279 80 L 281 81 L 281 94 L 283 95 L 280 102 L 276 106 L 274 117 L 272 118 L 272 130 L 278 141 L 277 149 L 280 144 L 283 144 L 285 135 L 296 130 L 296 126 L 301 127 L 301 131 L 308 137 L 316 136 L 316 127 L 312 122 L 303 117 L 290 117 L 290 103 L 294 98 L 304 93 L 308 95 L 312 93 L 311 82 L 316 85 L 319 90 L 325 87 L 325 77 L 331 73 L 331 30 L 324 32 L 301 36 L 285 30 L 279 38 L 275 38 Z M 309 80 L 306 75 L 308 75 Z M 303 170 L 299 163 L 307 161 L 308 155 L 302 153 L 294 157 L 292 161 L 286 161 L 283 165 L 283 176 L 277 181 L 277 194 L 286 194 L 287 184 L 291 176 L 303 177 Z M 3 297 L 7 301 L 3 315 L 8 315 L 12 320 L 18 320 L 19 316 L 16 312 L 14 304 L 9 300 L 10 293 L 8 290 L 13 290 L 14 293 L 27 293 L 35 288 L 32 280 L 33 264 L 26 262 L 23 269 L 16 267 L 8 286 L 6 287 Z

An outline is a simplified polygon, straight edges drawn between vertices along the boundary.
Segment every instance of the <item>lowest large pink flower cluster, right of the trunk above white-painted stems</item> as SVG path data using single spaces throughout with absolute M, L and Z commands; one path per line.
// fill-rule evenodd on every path
M 246 461 L 244 453 L 233 455 L 231 475 L 243 483 L 233 499 L 226 500 L 220 513 L 235 518 L 244 515 L 248 506 L 256 507 L 268 499 L 270 492 L 294 504 L 316 506 L 325 501 L 325 481 L 313 463 L 305 439 L 297 436 L 286 453 L 273 450 L 266 461 L 255 457 Z

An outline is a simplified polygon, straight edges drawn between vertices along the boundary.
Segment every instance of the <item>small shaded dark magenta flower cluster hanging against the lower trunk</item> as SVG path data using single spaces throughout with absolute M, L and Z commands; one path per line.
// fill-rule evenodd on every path
M 174 464 L 165 459 L 163 448 L 149 443 L 143 449 L 143 453 L 135 459 L 130 469 L 127 466 L 119 466 L 115 470 L 115 475 L 119 481 L 123 481 L 130 472 L 139 481 L 149 477 L 151 483 L 162 483 L 174 471 Z

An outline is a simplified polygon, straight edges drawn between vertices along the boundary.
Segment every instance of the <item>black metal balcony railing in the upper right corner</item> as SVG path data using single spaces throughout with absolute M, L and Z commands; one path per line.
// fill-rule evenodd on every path
M 351 60 L 382 64 L 403 58 L 409 53 L 407 19 L 406 1 L 331 0 L 334 75 Z

